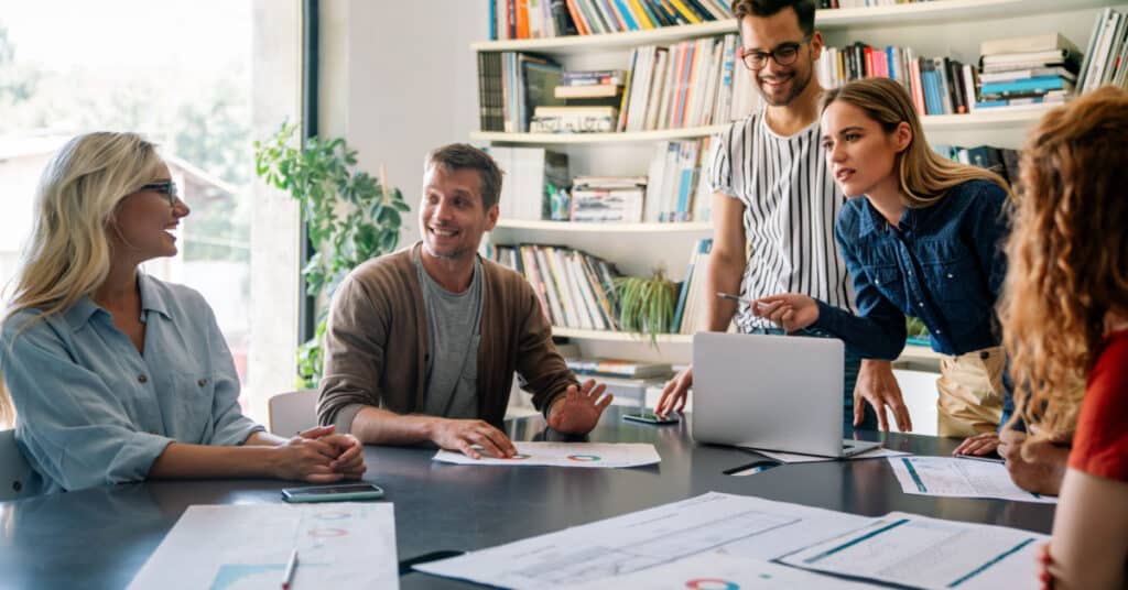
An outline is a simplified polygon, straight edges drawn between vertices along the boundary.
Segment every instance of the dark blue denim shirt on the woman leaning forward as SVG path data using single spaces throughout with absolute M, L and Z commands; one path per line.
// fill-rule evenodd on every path
M 900 354 L 905 316 L 924 322 L 933 350 L 942 354 L 997 346 L 995 301 L 1010 231 L 1005 203 L 1001 186 L 969 180 L 933 205 L 905 210 L 895 230 L 867 199 L 852 199 L 835 235 L 858 315 L 820 301 L 814 326 L 873 359 Z

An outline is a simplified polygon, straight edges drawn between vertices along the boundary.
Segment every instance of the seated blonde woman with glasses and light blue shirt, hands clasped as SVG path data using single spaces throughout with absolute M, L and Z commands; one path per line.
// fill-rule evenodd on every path
M 176 255 L 170 231 L 187 214 L 168 166 L 135 134 L 80 135 L 47 164 L 0 338 L 0 413 L 15 405 L 39 491 L 149 477 L 359 478 L 364 458 L 351 435 L 331 426 L 285 440 L 244 416 L 211 308 L 138 272 Z

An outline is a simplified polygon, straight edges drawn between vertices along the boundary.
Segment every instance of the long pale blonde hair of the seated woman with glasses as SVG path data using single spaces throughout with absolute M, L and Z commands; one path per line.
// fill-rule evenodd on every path
M 51 158 L 39 177 L 32 237 L 5 320 L 27 309 L 39 314 L 17 335 L 65 311 L 105 282 L 114 210 L 152 179 L 160 162 L 156 146 L 140 135 L 112 132 L 79 135 Z M 0 421 L 11 415 L 11 399 L 0 381 Z

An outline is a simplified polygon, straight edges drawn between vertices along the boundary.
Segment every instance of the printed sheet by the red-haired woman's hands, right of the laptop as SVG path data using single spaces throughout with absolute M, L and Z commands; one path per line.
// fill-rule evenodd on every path
M 1057 503 L 1057 497 L 1026 492 L 1015 485 L 1006 466 L 1001 463 L 954 457 L 901 457 L 889 459 L 889 464 L 906 494 Z

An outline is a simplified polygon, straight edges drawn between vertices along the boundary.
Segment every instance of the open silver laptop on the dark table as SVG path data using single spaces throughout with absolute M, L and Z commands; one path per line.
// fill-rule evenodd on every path
M 834 338 L 694 336 L 694 439 L 820 457 L 880 442 L 843 438 L 845 346 Z

